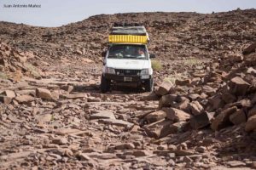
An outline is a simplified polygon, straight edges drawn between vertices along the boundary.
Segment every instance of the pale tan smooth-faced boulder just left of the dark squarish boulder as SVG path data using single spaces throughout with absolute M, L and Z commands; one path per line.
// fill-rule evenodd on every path
M 190 118 L 189 113 L 175 109 L 175 108 L 162 108 L 162 111 L 166 111 L 166 116 L 173 122 L 187 121 Z

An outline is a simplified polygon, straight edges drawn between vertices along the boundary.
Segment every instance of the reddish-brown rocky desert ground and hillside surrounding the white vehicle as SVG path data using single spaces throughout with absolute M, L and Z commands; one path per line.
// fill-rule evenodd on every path
M 114 22 L 146 26 L 154 92 L 99 92 Z M 0 22 L 0 169 L 255 169 L 256 10 Z

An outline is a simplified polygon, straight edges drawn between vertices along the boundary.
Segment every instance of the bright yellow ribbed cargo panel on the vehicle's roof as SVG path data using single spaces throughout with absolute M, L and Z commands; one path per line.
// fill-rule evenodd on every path
M 148 42 L 148 36 L 134 35 L 109 35 L 108 42 L 111 43 L 143 43 Z

